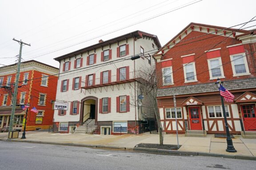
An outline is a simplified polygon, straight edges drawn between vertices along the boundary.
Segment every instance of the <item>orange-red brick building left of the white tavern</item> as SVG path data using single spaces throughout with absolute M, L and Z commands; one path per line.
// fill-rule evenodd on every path
M 6 131 L 10 124 L 12 94 L 17 65 L 0 67 L 0 130 Z M 58 68 L 34 60 L 22 62 L 16 104 L 30 104 L 27 117 L 27 131 L 47 129 L 53 122 L 52 100 L 56 97 Z M 30 110 L 36 107 L 38 113 Z M 16 107 L 13 129 L 24 126 L 25 111 Z

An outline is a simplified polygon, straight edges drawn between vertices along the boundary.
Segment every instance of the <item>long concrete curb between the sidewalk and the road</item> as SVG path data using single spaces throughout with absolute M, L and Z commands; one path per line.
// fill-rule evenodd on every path
M 8 139 L 0 139 L 1 141 L 8 141 Z M 61 142 L 43 142 L 43 141 L 33 141 L 33 140 L 20 140 L 20 139 L 11 139 L 12 142 L 28 142 L 28 143 L 44 143 L 44 144 L 58 144 L 58 145 L 68 145 L 68 146 L 79 146 L 79 147 L 94 147 L 102 149 L 120 149 L 120 150 L 129 150 L 129 151 L 145 151 L 151 153 L 164 153 L 170 155 L 195 155 L 195 156 L 211 156 L 219 158 L 232 158 L 232 159 L 245 159 L 245 160 L 254 160 L 256 161 L 256 156 L 245 156 L 245 155 L 225 155 L 217 153 L 207 153 L 207 152 L 191 152 L 191 151 L 175 151 L 175 150 L 165 150 L 165 149 L 156 149 L 156 148 L 143 148 L 143 147 L 114 147 L 107 145 L 91 145 L 91 144 L 82 144 L 82 143 L 61 143 Z

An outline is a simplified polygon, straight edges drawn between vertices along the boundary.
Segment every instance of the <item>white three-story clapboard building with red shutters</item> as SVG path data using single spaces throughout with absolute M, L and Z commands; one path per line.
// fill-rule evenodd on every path
M 137 80 L 154 69 L 152 54 L 159 48 L 156 35 L 134 31 L 55 58 L 60 62 L 56 102 L 68 103 L 68 110 L 54 112 L 55 130 L 108 135 L 154 125 L 148 97 L 138 99 Z

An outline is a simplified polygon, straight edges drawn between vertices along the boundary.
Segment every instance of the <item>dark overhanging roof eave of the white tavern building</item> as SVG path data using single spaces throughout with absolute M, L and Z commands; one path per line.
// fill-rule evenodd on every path
M 133 31 L 133 32 L 130 32 L 128 34 L 125 34 L 125 35 L 121 35 L 121 36 L 113 38 L 113 39 L 109 39 L 107 41 L 103 41 L 103 42 L 94 44 L 92 46 L 88 46 L 88 47 L 82 48 L 80 50 L 73 51 L 71 53 L 62 55 L 62 56 L 54 58 L 54 59 L 56 61 L 60 61 L 60 60 L 62 60 L 64 58 L 74 57 L 74 56 L 76 56 L 78 54 L 81 54 L 81 53 L 84 53 L 84 52 L 88 52 L 88 51 L 91 51 L 91 50 L 94 50 L 94 49 L 97 49 L 97 48 L 101 48 L 102 46 L 107 46 L 107 45 L 115 43 L 115 42 L 123 41 L 125 39 L 129 39 L 129 38 L 132 38 L 132 37 L 143 38 L 143 36 L 152 38 L 154 40 L 154 42 L 156 43 L 157 48 L 161 47 L 161 44 L 160 44 L 160 42 L 159 42 L 159 40 L 158 40 L 156 35 L 148 34 L 146 32 L 137 30 L 137 31 Z

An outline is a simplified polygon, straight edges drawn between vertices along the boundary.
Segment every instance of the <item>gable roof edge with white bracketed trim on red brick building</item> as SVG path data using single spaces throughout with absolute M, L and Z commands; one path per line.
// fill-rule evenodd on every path
M 237 36 L 242 36 L 242 35 L 250 35 L 250 34 L 253 34 L 254 32 L 253 30 L 247 31 L 247 30 L 233 29 L 233 28 L 227 28 L 227 27 L 207 25 L 202 23 L 189 23 L 187 27 L 185 27 L 176 36 L 174 36 L 169 42 L 167 42 L 164 46 L 162 46 L 153 55 L 153 57 L 164 55 L 168 50 L 170 50 L 177 43 L 182 42 L 182 39 L 184 39 L 192 31 L 200 31 L 207 34 L 221 35 L 221 36 L 232 35 L 230 36 L 230 38 L 236 38 Z

